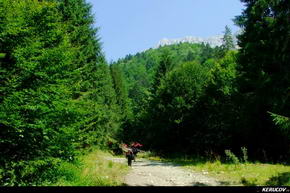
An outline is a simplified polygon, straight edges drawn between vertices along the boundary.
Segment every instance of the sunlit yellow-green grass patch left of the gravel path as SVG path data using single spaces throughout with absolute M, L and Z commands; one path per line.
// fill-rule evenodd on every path
M 77 163 L 64 162 L 60 165 L 61 174 L 57 182 L 45 183 L 49 186 L 122 186 L 123 177 L 128 171 L 126 164 L 105 159 L 109 153 L 94 150 L 80 156 Z

